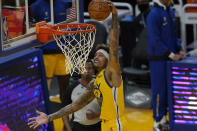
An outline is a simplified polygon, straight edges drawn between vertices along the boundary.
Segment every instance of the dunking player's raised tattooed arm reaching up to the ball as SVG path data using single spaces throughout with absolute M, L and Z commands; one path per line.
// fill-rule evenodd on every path
M 109 63 L 106 69 L 106 76 L 113 87 L 121 84 L 121 71 L 119 65 L 118 46 L 119 46 L 119 25 L 118 14 L 112 2 L 109 2 L 112 11 L 112 26 L 110 30 L 110 49 Z

